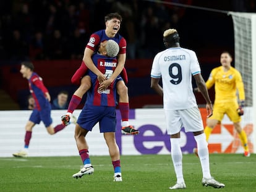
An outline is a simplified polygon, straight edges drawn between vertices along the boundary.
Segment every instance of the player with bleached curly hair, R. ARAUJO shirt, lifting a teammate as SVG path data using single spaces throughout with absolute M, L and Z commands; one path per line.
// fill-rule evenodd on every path
M 119 46 L 113 40 L 103 41 L 100 43 L 98 51 L 100 53 L 94 54 L 92 57 L 93 62 L 106 78 L 111 78 L 117 68 L 116 56 Z M 83 168 L 72 177 L 80 178 L 85 174 L 94 172 L 85 137 L 88 131 L 92 131 L 92 128 L 99 122 L 100 132 L 104 134 L 114 167 L 114 182 L 122 182 L 119 148 L 114 134 L 116 131 L 116 80 L 111 81 L 108 88 L 101 90 L 97 75 L 91 71 L 88 72 L 88 75 L 92 80 L 92 88 L 87 93 L 85 106 L 75 125 L 75 141 L 83 162 Z

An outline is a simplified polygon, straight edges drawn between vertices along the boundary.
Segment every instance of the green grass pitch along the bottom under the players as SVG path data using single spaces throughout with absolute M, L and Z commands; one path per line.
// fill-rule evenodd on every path
M 72 178 L 79 156 L 0 158 L 0 191 L 169 191 L 176 183 L 170 155 L 121 156 L 123 182 L 113 182 L 109 156 L 91 156 L 95 173 Z M 198 157 L 183 155 L 186 191 L 255 191 L 256 154 L 210 154 L 211 175 L 226 186 L 202 186 Z

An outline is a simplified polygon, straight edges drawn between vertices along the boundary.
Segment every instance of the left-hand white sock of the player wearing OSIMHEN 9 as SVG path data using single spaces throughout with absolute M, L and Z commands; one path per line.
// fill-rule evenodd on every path
M 173 159 L 177 183 L 184 183 L 182 172 L 182 152 L 179 144 L 180 138 L 171 138 L 171 158 Z

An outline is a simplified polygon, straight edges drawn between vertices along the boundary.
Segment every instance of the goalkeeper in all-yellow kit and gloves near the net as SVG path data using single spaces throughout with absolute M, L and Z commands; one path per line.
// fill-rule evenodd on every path
M 241 115 L 244 114 L 244 83 L 242 82 L 241 73 L 231 67 L 232 56 L 229 52 L 224 51 L 220 57 L 221 66 L 211 70 L 210 77 L 206 85 L 210 89 L 215 84 L 215 102 L 213 106 L 213 115 L 207 119 L 205 127 L 205 135 L 207 141 L 211 135 L 211 131 L 220 123 L 224 114 L 234 123 L 239 138 L 244 148 L 244 156 L 249 157 L 249 147 L 247 144 L 247 136 L 241 127 Z M 237 102 L 237 90 L 239 92 L 239 103 Z M 198 88 L 195 88 L 198 91 Z M 240 105 L 239 105 L 240 104 Z

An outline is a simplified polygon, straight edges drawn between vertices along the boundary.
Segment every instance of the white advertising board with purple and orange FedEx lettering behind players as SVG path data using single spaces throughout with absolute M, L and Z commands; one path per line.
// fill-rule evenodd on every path
M 206 113 L 201 109 L 205 125 Z M 163 109 L 131 109 L 129 116 L 130 125 L 140 131 L 139 135 L 121 134 L 121 115 L 117 110 L 116 141 L 121 154 L 169 154 L 171 144 L 166 132 L 166 123 Z M 247 133 L 250 152 L 253 151 L 252 123 L 243 126 Z M 181 130 L 181 149 L 183 153 L 192 153 L 196 147 L 193 133 Z M 223 124 L 217 125 L 208 140 L 209 152 L 242 152 L 242 146 L 232 122 L 223 119 Z

